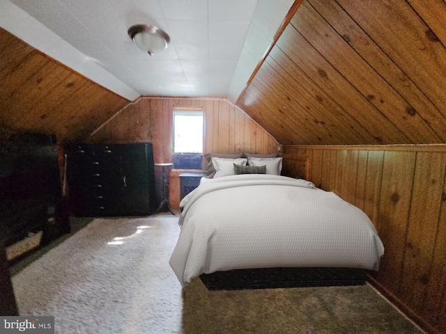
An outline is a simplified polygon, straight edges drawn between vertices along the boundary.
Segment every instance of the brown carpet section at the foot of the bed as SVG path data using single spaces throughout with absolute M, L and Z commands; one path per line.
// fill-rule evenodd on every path
M 183 292 L 187 334 L 420 334 L 369 285 Z

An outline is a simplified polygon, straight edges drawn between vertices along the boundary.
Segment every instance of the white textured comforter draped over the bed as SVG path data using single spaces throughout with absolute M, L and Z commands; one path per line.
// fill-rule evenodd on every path
M 201 184 L 180 203 L 169 264 L 185 287 L 201 273 L 272 267 L 378 270 L 383 244 L 364 212 L 311 182 L 233 175 Z

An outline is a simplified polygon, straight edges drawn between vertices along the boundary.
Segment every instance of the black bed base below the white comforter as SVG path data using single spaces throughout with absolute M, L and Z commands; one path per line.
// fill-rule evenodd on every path
M 367 272 L 357 268 L 236 269 L 203 273 L 200 279 L 209 290 L 330 287 L 363 285 Z

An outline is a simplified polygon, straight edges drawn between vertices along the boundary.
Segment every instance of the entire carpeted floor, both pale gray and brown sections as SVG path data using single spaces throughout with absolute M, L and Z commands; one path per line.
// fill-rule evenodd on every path
M 369 285 L 209 292 L 169 267 L 178 216 L 96 218 L 13 275 L 60 334 L 422 333 Z

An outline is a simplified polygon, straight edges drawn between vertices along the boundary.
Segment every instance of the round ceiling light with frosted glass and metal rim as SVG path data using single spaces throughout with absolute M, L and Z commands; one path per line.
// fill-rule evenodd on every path
M 134 44 L 151 56 L 166 49 L 170 43 L 169 35 L 157 26 L 135 24 L 130 26 L 127 32 Z

